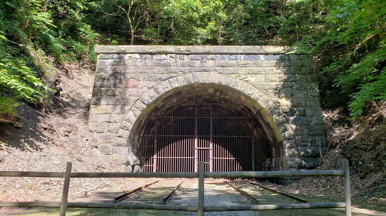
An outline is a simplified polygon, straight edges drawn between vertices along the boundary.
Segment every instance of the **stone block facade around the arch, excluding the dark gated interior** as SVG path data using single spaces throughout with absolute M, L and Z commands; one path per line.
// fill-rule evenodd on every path
M 256 133 L 265 137 L 262 143 L 273 146 L 273 168 L 316 167 L 326 152 L 326 137 L 315 63 L 312 56 L 291 51 L 278 46 L 96 46 L 89 127 L 97 133 L 98 148 L 123 172 L 139 171 L 142 131 L 157 110 L 187 103 L 192 95 L 209 95 L 247 110 Z

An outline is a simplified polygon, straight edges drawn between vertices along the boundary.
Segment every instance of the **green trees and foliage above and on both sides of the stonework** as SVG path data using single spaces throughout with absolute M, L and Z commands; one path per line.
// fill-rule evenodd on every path
M 354 119 L 385 100 L 385 21 L 383 0 L 5 0 L 1 91 L 38 101 L 37 77 L 96 62 L 98 43 L 290 45 L 316 56 L 322 100 Z

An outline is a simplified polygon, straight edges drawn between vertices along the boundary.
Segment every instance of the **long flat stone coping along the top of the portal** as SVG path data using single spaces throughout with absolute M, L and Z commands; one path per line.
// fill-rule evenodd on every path
M 95 46 L 97 54 L 286 54 L 290 46 L 174 46 L 174 45 L 122 45 Z

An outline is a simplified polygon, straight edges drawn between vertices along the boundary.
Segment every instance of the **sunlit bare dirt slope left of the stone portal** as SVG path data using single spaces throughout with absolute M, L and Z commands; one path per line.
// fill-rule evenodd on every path
M 95 69 L 90 65 L 66 65 L 57 71 L 62 91 L 49 99 L 47 108 L 38 111 L 20 106 L 22 128 L 0 122 L 0 170 L 64 172 L 66 162 L 72 162 L 73 172 L 116 172 L 97 149 L 94 134 L 87 126 Z M 62 179 L 1 178 L 0 200 L 59 201 L 62 185 Z M 113 184 L 105 179 L 73 179 L 70 196 L 84 194 L 96 186 Z

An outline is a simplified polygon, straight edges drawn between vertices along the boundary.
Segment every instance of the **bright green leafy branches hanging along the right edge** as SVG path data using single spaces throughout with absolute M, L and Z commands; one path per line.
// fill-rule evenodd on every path
M 382 0 L 342 0 L 326 17 L 334 48 L 346 51 L 324 72 L 338 72 L 334 86 L 351 100 L 351 119 L 372 102 L 386 100 L 386 5 Z M 324 43 L 326 42 L 324 41 Z

